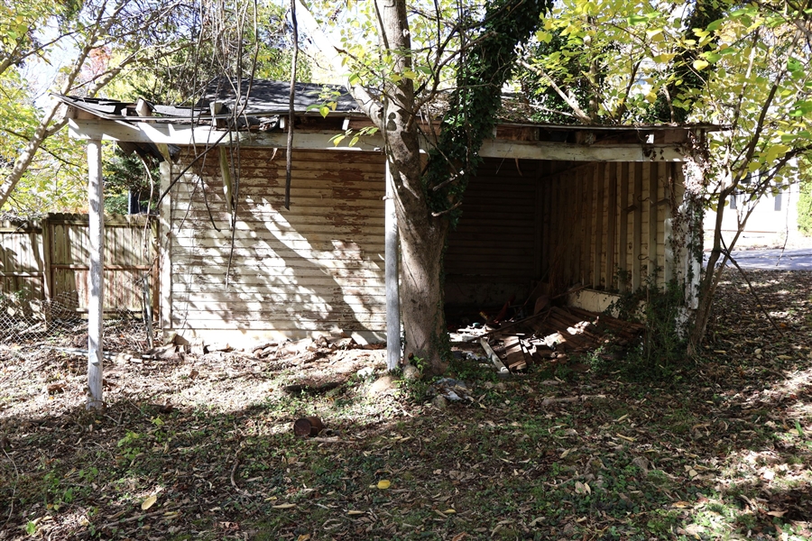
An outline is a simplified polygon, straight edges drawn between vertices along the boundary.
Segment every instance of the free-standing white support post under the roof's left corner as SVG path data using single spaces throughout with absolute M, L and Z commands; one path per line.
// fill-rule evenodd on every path
M 88 303 L 88 409 L 101 408 L 102 344 L 105 306 L 105 195 L 101 141 L 88 141 L 88 201 L 90 237 L 90 301 Z

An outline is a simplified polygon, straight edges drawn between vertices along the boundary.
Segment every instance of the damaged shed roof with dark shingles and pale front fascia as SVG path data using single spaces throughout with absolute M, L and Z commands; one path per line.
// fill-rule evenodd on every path
M 247 80 L 237 87 L 215 79 L 195 106 L 152 104 L 143 99 L 123 102 L 106 98 L 57 96 L 69 105 L 69 130 L 78 139 L 103 139 L 136 150 L 157 153 L 160 144 L 177 148 L 239 144 L 241 147 L 284 148 L 290 110 L 286 82 Z M 685 161 L 703 145 L 703 133 L 718 130 L 712 124 L 543 124 L 515 115 L 521 96 L 511 102 L 513 120 L 500 119 L 492 139 L 483 143 L 483 157 L 569 161 Z M 222 104 L 213 115 L 214 102 Z M 323 105 L 328 105 L 327 115 Z M 521 109 L 521 107 L 520 107 Z M 295 149 L 381 151 L 381 133 L 364 133 L 372 120 L 359 110 L 343 87 L 297 83 L 294 100 Z M 517 122 L 519 119 L 520 122 Z M 436 120 L 422 123 L 421 145 L 428 151 L 437 134 Z M 364 133 L 337 137 L 341 133 Z M 698 135 L 698 139 L 695 136 Z M 170 150 L 176 148 L 170 146 Z M 171 152 L 170 152 L 171 153 Z

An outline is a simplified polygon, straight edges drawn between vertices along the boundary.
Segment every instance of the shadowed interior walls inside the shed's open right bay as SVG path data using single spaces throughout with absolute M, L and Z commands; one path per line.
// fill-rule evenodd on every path
M 674 163 L 485 160 L 449 236 L 447 301 L 521 303 L 539 281 L 553 295 L 662 285 L 675 271 L 666 221 L 683 193 Z

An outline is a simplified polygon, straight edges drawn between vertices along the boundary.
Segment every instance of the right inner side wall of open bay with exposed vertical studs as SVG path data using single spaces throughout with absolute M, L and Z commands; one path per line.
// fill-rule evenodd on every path
M 541 222 L 549 247 L 540 266 L 554 289 L 638 289 L 674 277 L 666 221 L 685 192 L 678 165 L 587 163 L 540 182 L 549 214 Z

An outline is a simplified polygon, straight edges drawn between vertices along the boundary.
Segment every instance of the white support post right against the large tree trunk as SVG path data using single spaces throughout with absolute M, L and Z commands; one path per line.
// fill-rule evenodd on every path
M 386 282 L 386 366 L 392 371 L 401 362 L 401 296 L 398 288 L 398 221 L 389 160 L 386 160 L 384 219 L 384 277 Z

